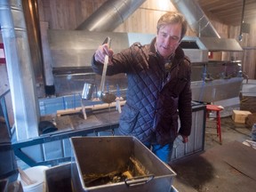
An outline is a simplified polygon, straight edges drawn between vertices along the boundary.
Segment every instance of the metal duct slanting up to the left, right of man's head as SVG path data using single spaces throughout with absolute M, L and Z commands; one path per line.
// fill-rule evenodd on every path
M 196 0 L 171 0 L 171 2 L 185 16 L 188 25 L 196 32 L 197 36 L 220 38 Z

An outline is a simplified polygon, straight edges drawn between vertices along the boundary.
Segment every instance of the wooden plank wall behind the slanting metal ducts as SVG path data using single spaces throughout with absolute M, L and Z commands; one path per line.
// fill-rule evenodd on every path
M 101 4 L 107 0 L 37 0 L 40 20 L 49 23 L 49 28 L 53 29 L 75 29 L 86 20 L 92 12 L 96 11 Z M 161 7 L 161 2 L 166 3 Z M 134 33 L 156 33 L 156 21 L 164 12 L 176 11 L 170 0 L 147 0 L 138 10 L 124 21 L 115 32 L 134 32 Z M 212 21 L 212 25 L 221 37 L 238 39 L 240 27 L 224 25 L 212 15 L 206 13 Z M 255 79 L 256 76 L 256 38 L 252 34 L 256 33 L 256 25 L 251 26 L 251 33 L 244 34 L 243 41 L 240 42 L 244 52 L 234 52 L 231 54 L 237 60 L 243 61 L 244 72 L 249 78 Z M 187 36 L 196 36 L 188 29 Z

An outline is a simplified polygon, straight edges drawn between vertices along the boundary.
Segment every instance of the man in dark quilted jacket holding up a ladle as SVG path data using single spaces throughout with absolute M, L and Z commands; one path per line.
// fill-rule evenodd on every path
M 150 44 L 135 43 L 117 54 L 103 44 L 92 59 L 97 74 L 102 73 L 106 55 L 108 76 L 127 74 L 119 132 L 138 138 L 165 163 L 171 160 L 175 138 L 180 134 L 186 143 L 191 131 L 191 68 L 179 47 L 186 31 L 184 17 L 168 12 L 158 20 L 157 34 Z

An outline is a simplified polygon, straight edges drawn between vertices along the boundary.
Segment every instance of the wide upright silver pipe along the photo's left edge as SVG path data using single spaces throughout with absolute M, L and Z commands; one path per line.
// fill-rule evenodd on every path
M 22 0 L 0 1 L 0 25 L 17 140 L 38 136 L 39 105 Z

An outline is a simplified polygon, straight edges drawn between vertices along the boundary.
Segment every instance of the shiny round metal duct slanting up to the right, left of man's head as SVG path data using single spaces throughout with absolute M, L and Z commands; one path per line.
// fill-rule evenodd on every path
M 113 31 L 146 0 L 108 0 L 76 29 Z

